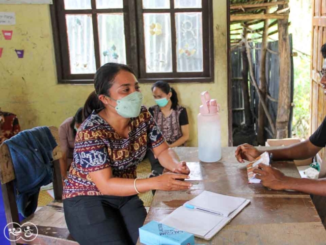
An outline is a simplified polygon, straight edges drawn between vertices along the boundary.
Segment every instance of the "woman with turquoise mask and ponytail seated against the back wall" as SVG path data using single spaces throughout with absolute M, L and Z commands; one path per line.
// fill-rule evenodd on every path
M 185 146 L 189 139 L 188 115 L 186 109 L 179 106 L 176 91 L 167 82 L 157 81 L 152 86 L 152 93 L 157 105 L 148 110 L 154 117 L 170 148 Z M 152 166 L 151 177 L 161 175 L 164 167 L 152 151 L 148 151 L 147 157 Z

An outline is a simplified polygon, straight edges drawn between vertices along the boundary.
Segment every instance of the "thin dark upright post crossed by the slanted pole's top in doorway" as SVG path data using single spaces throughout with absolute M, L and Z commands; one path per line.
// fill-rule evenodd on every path
M 243 28 L 243 36 L 247 38 L 247 29 Z M 248 57 L 246 51 L 246 45 L 242 43 L 241 48 L 241 57 L 242 57 L 242 91 L 243 91 L 243 107 L 244 107 L 244 119 L 246 125 L 252 125 L 252 116 L 250 111 L 250 97 L 249 97 L 249 86 L 248 86 Z

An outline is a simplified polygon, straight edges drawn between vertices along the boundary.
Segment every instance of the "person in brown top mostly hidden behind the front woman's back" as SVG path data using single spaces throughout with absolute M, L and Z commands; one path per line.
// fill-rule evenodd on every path
M 59 127 L 60 148 L 62 151 L 62 158 L 60 158 L 59 161 L 62 180 L 67 178 L 67 170 L 73 159 L 75 137 L 82 122 L 83 107 L 80 107 L 75 116 L 71 116 L 64 120 Z

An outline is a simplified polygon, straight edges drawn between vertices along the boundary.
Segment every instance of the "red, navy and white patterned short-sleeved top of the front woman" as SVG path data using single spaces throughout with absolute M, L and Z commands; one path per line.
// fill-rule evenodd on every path
M 89 176 L 92 171 L 111 167 L 113 177 L 136 178 L 137 165 L 144 159 L 147 149 L 164 141 L 145 106 L 138 117 L 130 119 L 127 139 L 120 137 L 93 112 L 76 135 L 74 161 L 65 181 L 63 199 L 77 195 L 102 195 Z

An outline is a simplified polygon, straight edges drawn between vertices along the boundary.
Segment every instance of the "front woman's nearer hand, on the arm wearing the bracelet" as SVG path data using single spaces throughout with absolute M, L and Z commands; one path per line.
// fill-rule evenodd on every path
M 185 181 L 180 181 L 176 179 L 189 179 L 187 175 L 180 175 L 174 173 L 166 173 L 162 174 L 158 177 L 154 177 L 155 179 L 155 189 L 156 190 L 187 190 L 192 187 L 191 183 L 187 183 Z

